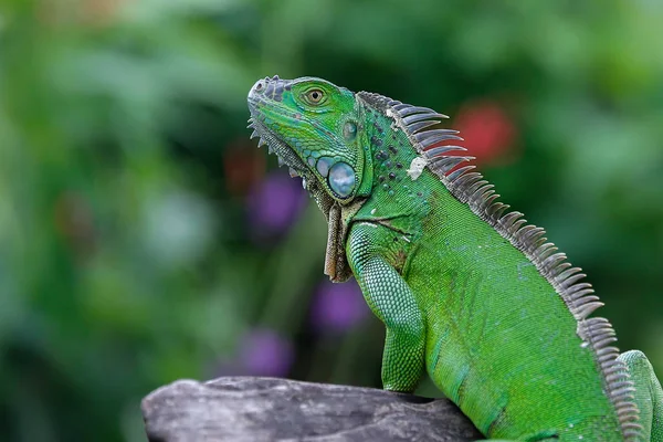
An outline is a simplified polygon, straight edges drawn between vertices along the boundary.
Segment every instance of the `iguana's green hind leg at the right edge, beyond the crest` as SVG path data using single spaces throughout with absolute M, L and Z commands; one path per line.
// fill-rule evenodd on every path
M 663 442 L 663 389 L 652 365 L 639 350 L 625 351 L 619 359 L 627 365 L 631 380 L 635 383 L 633 396 L 640 410 L 644 436 L 648 441 Z

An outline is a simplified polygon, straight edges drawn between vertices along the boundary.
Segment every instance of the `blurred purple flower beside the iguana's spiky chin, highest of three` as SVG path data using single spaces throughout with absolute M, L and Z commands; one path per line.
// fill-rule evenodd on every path
M 273 172 L 249 194 L 249 220 L 259 236 L 284 233 L 306 202 L 299 180 Z

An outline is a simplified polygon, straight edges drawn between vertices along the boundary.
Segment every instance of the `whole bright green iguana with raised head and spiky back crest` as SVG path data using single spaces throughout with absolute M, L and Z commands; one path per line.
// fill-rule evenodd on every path
M 619 354 L 580 269 L 461 167 L 444 115 L 313 77 L 260 80 L 249 107 L 327 218 L 325 273 L 385 323 L 385 389 L 425 370 L 494 439 L 663 441 L 644 354 Z

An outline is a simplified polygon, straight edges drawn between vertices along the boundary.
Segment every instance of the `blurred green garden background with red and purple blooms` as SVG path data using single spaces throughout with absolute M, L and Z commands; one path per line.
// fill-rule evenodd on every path
M 501 3 L 3 1 L 0 438 L 143 441 L 178 378 L 379 387 L 381 324 L 249 140 L 273 74 L 451 115 L 662 377 L 663 6 Z

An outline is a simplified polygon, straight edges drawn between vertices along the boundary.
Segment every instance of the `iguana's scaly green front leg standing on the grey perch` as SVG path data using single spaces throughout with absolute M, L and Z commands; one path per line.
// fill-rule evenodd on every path
M 386 390 L 412 392 L 424 371 L 425 325 L 414 294 L 389 263 L 393 232 L 382 225 L 355 224 L 347 256 L 371 311 L 385 323 L 382 356 Z

